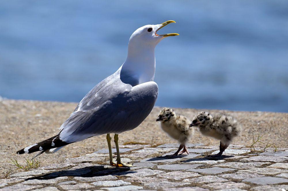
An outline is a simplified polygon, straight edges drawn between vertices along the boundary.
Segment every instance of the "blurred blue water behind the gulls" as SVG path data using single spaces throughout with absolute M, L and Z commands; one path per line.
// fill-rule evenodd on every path
M 1 1 L 0 95 L 79 102 L 125 61 L 130 35 L 175 20 L 156 47 L 156 105 L 288 112 L 288 1 Z

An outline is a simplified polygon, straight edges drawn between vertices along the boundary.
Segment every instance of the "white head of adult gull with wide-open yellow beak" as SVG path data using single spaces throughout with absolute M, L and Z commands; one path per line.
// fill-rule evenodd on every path
M 140 27 L 137 29 L 130 37 L 129 44 L 142 44 L 147 46 L 156 46 L 162 39 L 169 36 L 177 36 L 179 34 L 177 33 L 170 33 L 170 34 L 164 34 L 164 35 L 158 35 L 157 31 L 161 29 L 162 27 L 165 27 L 169 23 L 176 23 L 174 20 L 168 20 L 166 22 L 163 22 L 161 24 L 148 24 L 143 27 Z

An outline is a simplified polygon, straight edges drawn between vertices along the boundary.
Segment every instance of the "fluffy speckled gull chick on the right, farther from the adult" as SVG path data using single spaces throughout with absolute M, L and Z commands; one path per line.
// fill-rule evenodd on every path
M 241 125 L 231 116 L 215 114 L 214 117 L 205 111 L 199 112 L 189 127 L 198 127 L 203 135 L 220 140 L 220 152 L 209 157 L 221 156 L 232 139 L 242 130 Z

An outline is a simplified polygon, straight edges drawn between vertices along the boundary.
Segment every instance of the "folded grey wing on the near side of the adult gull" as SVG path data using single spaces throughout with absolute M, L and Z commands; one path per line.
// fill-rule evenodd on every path
M 62 141 L 72 143 L 106 133 L 122 133 L 136 128 L 149 115 L 158 96 L 155 82 L 131 86 L 115 81 L 101 88 L 63 124 Z M 113 91 L 107 92 L 107 91 Z M 97 99 L 95 99 L 97 97 Z

